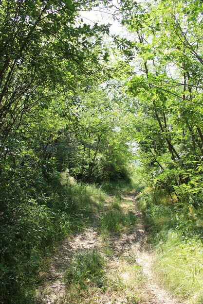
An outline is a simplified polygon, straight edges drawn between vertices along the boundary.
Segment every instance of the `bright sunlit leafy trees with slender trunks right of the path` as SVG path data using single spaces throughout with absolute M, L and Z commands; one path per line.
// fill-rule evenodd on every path
M 121 10 L 134 36 L 128 87 L 138 158 L 151 186 L 196 206 L 202 201 L 202 2 L 133 4 L 124 1 Z

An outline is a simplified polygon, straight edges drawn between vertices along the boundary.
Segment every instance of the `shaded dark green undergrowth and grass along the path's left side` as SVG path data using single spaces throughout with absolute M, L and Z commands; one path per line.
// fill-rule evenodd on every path
M 50 183 L 50 185 L 49 185 Z M 82 230 L 106 199 L 98 187 L 54 176 L 34 198 L 21 195 L 20 205 L 1 216 L 0 303 L 34 303 L 39 272 L 57 242 Z M 43 191 L 43 192 L 42 192 Z M 17 192 L 18 194 L 18 192 Z M 16 194 L 16 196 L 17 196 Z

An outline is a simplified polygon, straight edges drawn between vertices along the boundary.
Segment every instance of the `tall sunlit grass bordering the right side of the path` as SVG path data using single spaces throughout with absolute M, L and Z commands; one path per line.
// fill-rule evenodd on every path
M 157 280 L 185 303 L 203 301 L 202 208 L 145 190 L 138 202 L 155 249 Z

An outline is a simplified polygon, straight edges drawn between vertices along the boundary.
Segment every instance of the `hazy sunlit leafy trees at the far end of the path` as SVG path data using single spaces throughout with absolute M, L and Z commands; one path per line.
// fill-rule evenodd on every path
M 89 87 L 80 96 L 77 107 L 72 109 L 77 125 L 64 134 L 65 144 L 61 136 L 53 147 L 59 155 L 58 169 L 68 167 L 72 176 L 88 184 L 129 178 L 126 167 L 131 157 L 131 138 L 124 124 L 125 104 L 118 103 L 119 97 L 111 97 L 109 90 L 105 92 L 101 87 Z

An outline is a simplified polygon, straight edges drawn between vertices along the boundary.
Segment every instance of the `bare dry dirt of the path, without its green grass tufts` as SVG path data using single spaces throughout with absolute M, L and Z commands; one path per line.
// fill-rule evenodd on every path
M 133 213 L 136 223 L 128 229 L 124 225 L 119 234 L 101 235 L 99 221 L 116 211 L 111 204 L 112 199 L 92 225 L 57 248 L 49 270 L 41 274 L 43 284 L 37 290 L 37 304 L 183 304 L 170 297 L 153 277 L 153 253 L 148 247 L 142 214 L 136 207 L 136 196 L 122 198 L 118 210 L 124 216 Z M 89 279 L 86 288 L 67 287 L 63 278 L 71 260 L 77 253 L 91 253 L 93 248 L 105 259 L 105 287 L 95 286 Z

